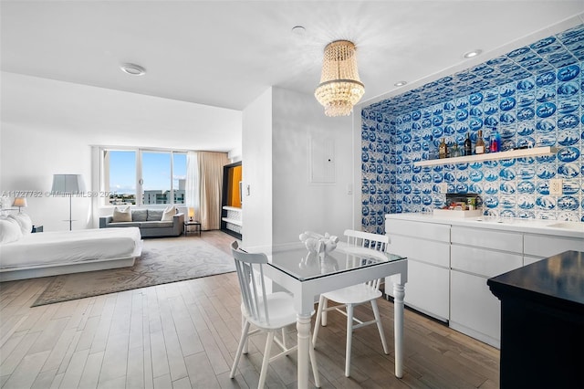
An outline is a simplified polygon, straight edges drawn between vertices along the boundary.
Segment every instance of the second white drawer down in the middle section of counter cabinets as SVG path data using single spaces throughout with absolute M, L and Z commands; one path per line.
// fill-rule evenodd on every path
M 498 276 L 515 268 L 521 268 L 523 256 L 485 248 L 453 245 L 450 266 L 487 278 Z

